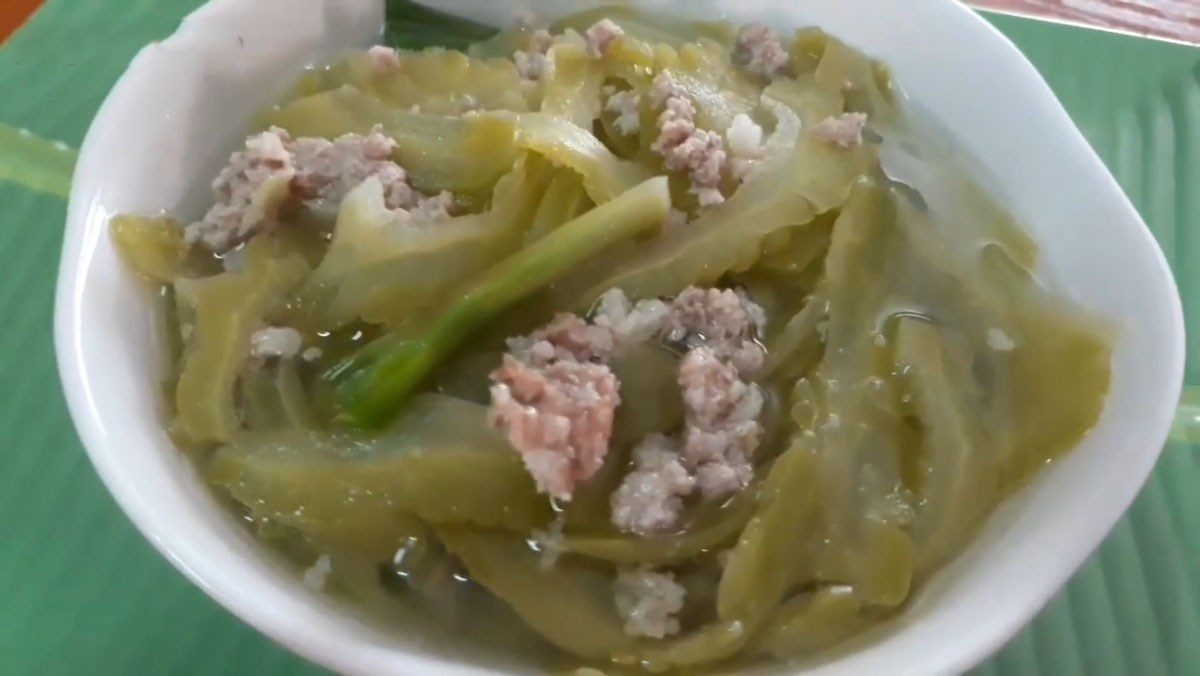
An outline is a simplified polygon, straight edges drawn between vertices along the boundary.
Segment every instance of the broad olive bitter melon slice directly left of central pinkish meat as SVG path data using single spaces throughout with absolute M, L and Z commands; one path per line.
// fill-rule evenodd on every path
M 378 435 L 241 432 L 214 456 L 209 475 L 259 518 L 359 550 L 390 548 L 389 556 L 407 515 L 516 533 L 551 516 L 486 409 L 442 395 L 414 399 Z

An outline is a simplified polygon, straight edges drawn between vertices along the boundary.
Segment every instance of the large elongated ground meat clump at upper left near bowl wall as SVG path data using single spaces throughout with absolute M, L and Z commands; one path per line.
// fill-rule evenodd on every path
M 212 181 L 217 196 L 203 220 L 185 228 L 190 245 L 203 244 L 224 253 L 259 232 L 276 227 L 280 210 L 289 203 L 316 207 L 338 203 L 368 178 L 378 179 L 389 209 L 414 220 L 448 215 L 449 192 L 425 196 L 408 183 L 408 174 L 392 158 L 396 142 L 379 127 L 368 134 L 350 133 L 335 140 L 293 139 L 271 127 L 246 139 Z

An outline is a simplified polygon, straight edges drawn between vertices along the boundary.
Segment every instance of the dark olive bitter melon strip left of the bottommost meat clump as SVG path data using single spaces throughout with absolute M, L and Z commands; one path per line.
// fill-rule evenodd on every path
M 438 528 L 438 537 L 473 580 L 559 648 L 598 660 L 632 653 L 635 641 L 617 616 L 611 574 L 565 557 L 542 566 L 541 555 L 518 536 Z

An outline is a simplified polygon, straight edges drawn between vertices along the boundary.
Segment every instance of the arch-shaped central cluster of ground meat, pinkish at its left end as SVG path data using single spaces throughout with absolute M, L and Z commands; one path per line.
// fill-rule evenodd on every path
M 648 340 L 686 351 L 679 370 L 685 430 L 642 439 L 611 498 L 622 530 L 668 531 L 688 495 L 727 496 L 751 478 L 763 401 L 742 377 L 762 365 L 755 339 L 764 322 L 762 307 L 734 291 L 690 287 L 671 301 L 635 304 L 610 289 L 590 322 L 562 313 L 509 340 L 509 354 L 492 373 L 492 424 L 521 453 L 539 490 L 570 499 L 608 453 L 620 402 L 608 360 Z

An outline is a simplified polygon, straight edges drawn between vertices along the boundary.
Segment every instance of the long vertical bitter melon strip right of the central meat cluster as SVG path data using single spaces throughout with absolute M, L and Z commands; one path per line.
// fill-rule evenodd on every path
M 901 485 L 905 427 L 889 396 L 893 363 L 876 340 L 888 309 L 912 285 L 892 193 L 872 180 L 856 184 L 833 228 L 823 295 L 829 301 L 826 351 L 817 373 L 826 412 L 817 420 L 822 507 L 828 545 L 818 575 L 877 592 L 882 537 Z M 836 346 L 836 348 L 832 347 Z M 893 510 L 894 512 L 894 510 Z M 886 536 L 886 533 L 883 534 Z M 884 591 L 890 599 L 890 588 Z

